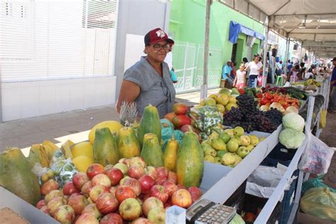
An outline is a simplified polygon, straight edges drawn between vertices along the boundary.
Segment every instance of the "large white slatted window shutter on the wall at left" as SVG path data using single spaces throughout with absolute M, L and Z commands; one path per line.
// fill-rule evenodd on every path
M 2 82 L 114 75 L 118 1 L 0 1 Z

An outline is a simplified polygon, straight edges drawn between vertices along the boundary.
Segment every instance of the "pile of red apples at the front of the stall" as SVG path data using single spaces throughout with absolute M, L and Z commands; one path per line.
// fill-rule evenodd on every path
M 121 159 L 103 167 L 91 164 L 59 189 L 50 179 L 41 186 L 45 198 L 36 205 L 60 223 L 165 223 L 165 209 L 188 208 L 202 194 L 177 184 L 165 167 L 146 166 L 144 159 Z

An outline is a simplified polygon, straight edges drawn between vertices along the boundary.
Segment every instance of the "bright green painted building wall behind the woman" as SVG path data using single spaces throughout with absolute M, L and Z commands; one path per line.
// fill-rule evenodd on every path
M 191 43 L 204 43 L 206 0 L 172 0 L 170 11 L 169 33 L 174 33 L 175 40 Z M 264 26 L 256 21 L 230 9 L 219 2 L 211 5 L 210 45 L 221 47 L 222 64 L 231 59 L 233 44 L 229 42 L 230 21 L 240 23 L 258 33 L 264 34 Z M 246 57 L 246 35 L 240 34 L 240 52 L 237 51 L 237 62 Z M 260 40 L 256 40 L 252 54 L 260 52 Z

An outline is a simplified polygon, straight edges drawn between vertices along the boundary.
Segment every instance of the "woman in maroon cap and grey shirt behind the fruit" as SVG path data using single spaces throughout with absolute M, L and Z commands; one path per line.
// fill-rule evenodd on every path
M 121 83 L 116 110 L 119 113 L 121 103 L 137 103 L 138 116 L 150 103 L 157 107 L 159 117 L 172 112 L 175 102 L 175 89 L 170 78 L 169 67 L 164 58 L 169 52 L 169 45 L 174 40 L 169 39 L 161 28 L 150 30 L 145 35 L 145 54 L 140 61 L 126 70 Z

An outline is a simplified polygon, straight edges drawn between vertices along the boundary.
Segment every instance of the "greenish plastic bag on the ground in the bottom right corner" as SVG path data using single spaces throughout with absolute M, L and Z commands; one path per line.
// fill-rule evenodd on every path
M 309 215 L 336 221 L 336 194 L 324 187 L 309 189 L 301 198 L 300 208 Z

